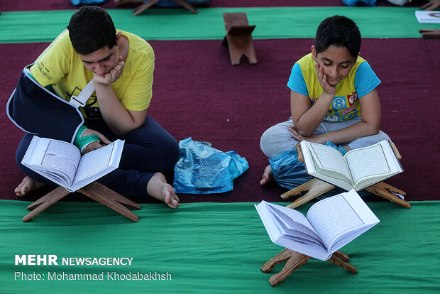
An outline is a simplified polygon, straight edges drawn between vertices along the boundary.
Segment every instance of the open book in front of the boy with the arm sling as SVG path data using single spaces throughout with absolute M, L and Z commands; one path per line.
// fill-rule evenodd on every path
M 123 143 L 116 140 L 81 156 L 71 143 L 33 136 L 21 163 L 74 192 L 118 168 Z

